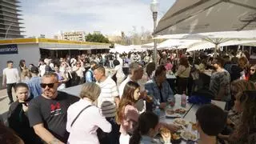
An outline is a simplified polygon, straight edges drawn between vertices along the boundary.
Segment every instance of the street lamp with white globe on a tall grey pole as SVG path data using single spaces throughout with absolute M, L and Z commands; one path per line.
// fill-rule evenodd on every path
M 150 3 L 150 10 L 153 13 L 154 31 L 157 27 L 158 7 L 159 7 L 158 0 L 152 0 Z M 154 62 L 155 62 L 155 66 L 157 66 L 158 65 L 158 54 L 157 54 L 157 40 L 156 39 L 154 39 Z

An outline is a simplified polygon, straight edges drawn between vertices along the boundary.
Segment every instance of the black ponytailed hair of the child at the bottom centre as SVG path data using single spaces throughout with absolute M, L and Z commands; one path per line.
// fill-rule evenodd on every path
M 150 132 L 150 129 L 154 129 L 158 125 L 158 115 L 153 112 L 147 111 L 142 113 L 138 117 L 138 126 L 134 130 L 133 135 L 130 137 L 129 144 L 139 144 L 142 135 L 146 135 Z

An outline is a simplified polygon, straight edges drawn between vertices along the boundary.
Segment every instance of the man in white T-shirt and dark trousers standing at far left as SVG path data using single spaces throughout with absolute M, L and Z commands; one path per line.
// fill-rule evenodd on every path
M 14 68 L 14 62 L 7 61 L 7 67 L 2 70 L 2 86 L 7 86 L 7 94 L 10 99 L 9 105 L 14 102 L 12 88 L 19 82 L 18 70 Z

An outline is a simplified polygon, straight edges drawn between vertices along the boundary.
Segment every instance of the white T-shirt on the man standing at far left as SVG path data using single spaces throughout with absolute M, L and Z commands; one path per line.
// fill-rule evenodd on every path
M 19 76 L 16 68 L 5 68 L 2 70 L 2 74 L 6 75 L 6 84 L 18 83 Z

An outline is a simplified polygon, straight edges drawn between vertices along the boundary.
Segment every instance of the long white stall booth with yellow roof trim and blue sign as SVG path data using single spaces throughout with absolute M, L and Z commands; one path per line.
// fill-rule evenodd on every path
M 110 44 L 98 42 L 75 42 L 50 38 L 15 38 L 0 40 L 0 76 L 7 61 L 18 67 L 21 59 L 26 64 L 38 65 L 40 58 L 60 58 L 66 54 L 98 54 L 108 52 Z

